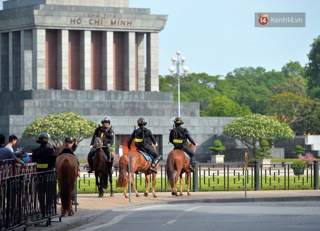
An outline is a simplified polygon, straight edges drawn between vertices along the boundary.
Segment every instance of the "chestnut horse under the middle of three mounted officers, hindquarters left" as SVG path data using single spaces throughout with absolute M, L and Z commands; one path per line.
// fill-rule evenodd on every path
M 152 144 L 152 146 L 156 149 L 156 147 Z M 129 173 L 129 154 L 132 154 L 132 171 L 131 171 L 131 175 L 128 174 L 126 177 L 126 173 Z M 127 194 L 127 185 L 129 182 L 129 176 L 130 180 L 131 180 L 131 185 L 134 189 L 134 193 L 136 194 L 136 196 L 140 196 L 140 194 L 138 193 L 136 187 L 134 186 L 134 182 L 133 182 L 133 174 L 135 173 L 135 171 L 144 173 L 145 175 L 145 179 L 147 181 L 147 188 L 146 191 L 144 193 L 144 196 L 148 196 L 149 193 L 149 188 L 150 188 L 150 173 L 152 174 L 152 195 L 153 197 L 158 197 L 156 195 L 156 191 L 155 191 L 155 186 L 156 186 L 156 173 L 152 173 L 149 170 L 149 167 L 152 163 L 152 160 L 145 160 L 144 155 L 142 155 L 140 152 L 138 151 L 130 151 L 124 155 L 122 155 L 120 157 L 119 160 L 119 178 L 118 178 L 118 182 L 117 182 L 117 187 L 123 187 L 124 188 L 124 192 L 123 194 L 125 195 L 126 198 L 128 198 L 128 194 Z M 155 167 L 155 169 L 157 170 L 159 167 L 159 163 L 157 164 L 157 166 Z

